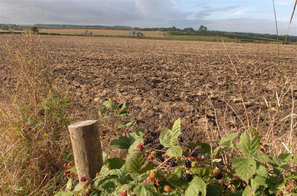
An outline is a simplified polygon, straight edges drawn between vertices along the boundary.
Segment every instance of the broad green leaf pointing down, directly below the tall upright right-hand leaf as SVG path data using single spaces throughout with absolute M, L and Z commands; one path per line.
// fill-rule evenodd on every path
M 244 157 L 232 158 L 232 165 L 239 178 L 248 181 L 256 172 L 256 161 L 254 159 L 246 159 Z

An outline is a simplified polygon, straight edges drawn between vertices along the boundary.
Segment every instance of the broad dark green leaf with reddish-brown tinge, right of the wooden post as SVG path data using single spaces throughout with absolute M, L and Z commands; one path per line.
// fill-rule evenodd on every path
M 134 180 L 143 180 L 146 177 L 146 172 L 151 170 L 154 164 L 146 160 L 142 152 L 132 152 L 127 156 L 125 166 Z

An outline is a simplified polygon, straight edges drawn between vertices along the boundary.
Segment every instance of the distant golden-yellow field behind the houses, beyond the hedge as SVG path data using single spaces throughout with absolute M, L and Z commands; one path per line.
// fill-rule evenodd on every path
M 91 31 L 94 35 L 128 35 L 129 30 L 108 30 L 108 29 L 38 29 L 40 33 L 61 33 L 61 34 L 80 34 L 84 30 Z M 147 37 L 164 37 L 160 31 L 140 31 Z

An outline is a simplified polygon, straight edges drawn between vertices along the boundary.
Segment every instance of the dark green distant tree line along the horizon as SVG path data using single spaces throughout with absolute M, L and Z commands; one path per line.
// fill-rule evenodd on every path
M 10 27 L 9 27 L 10 26 Z M 176 31 L 176 32 L 195 32 L 192 27 L 187 27 L 184 29 L 176 28 L 175 26 L 169 28 L 138 28 L 138 27 L 129 27 L 129 26 L 103 26 L 103 25 L 56 25 L 56 24 L 35 24 L 33 25 L 37 28 L 49 28 L 49 29 L 111 29 L 111 30 L 158 30 L 158 31 Z M 1 30 L 8 30 L 11 28 L 12 30 L 25 30 L 31 28 L 31 25 L 16 25 L 16 24 L 0 24 Z M 199 32 L 221 32 L 221 33 L 234 33 L 247 35 L 256 38 L 268 38 L 268 39 L 277 39 L 277 35 L 271 34 L 261 34 L 261 33 L 244 33 L 244 32 L 228 32 L 228 31 L 219 31 L 219 30 L 208 30 L 206 26 L 200 25 L 198 28 Z M 279 35 L 280 41 L 285 41 L 285 35 Z M 297 42 L 297 36 L 287 36 L 287 41 L 289 42 Z

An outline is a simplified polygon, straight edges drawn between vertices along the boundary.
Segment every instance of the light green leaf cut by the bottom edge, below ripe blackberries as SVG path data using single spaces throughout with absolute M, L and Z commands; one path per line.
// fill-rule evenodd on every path
M 202 178 L 195 176 L 190 182 L 185 196 L 196 196 L 199 195 L 199 192 L 201 192 L 201 195 L 206 195 L 206 184 Z

